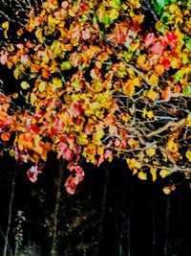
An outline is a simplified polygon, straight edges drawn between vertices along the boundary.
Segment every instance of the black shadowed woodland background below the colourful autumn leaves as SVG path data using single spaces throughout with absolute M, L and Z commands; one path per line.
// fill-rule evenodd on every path
M 25 167 L 16 169 L 13 159 L 0 158 L 1 250 L 8 226 L 12 175 L 15 175 L 11 249 L 18 226 L 16 214 L 20 210 L 25 217 L 21 222 L 22 248 L 31 245 L 35 251 L 24 255 L 49 255 L 51 239 L 46 219 L 51 220 L 53 215 L 57 170 L 57 161 L 51 153 L 44 173 L 36 183 L 31 183 Z M 166 196 L 162 182 L 139 180 L 119 159 L 99 169 L 86 165 L 85 171 L 85 180 L 74 196 L 61 187 L 57 255 L 191 255 L 191 191 L 186 182 Z

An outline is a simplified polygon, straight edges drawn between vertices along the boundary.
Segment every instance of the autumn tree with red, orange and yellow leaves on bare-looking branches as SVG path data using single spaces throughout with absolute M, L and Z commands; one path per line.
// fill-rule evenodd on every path
M 47 0 L 15 36 L 4 21 L 0 62 L 20 87 L 1 91 L 2 155 L 31 163 L 35 182 L 54 151 L 67 162 L 71 194 L 84 161 L 114 156 L 143 180 L 190 178 L 189 9 L 173 0 Z M 164 193 L 175 188 L 169 179 Z

